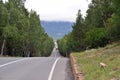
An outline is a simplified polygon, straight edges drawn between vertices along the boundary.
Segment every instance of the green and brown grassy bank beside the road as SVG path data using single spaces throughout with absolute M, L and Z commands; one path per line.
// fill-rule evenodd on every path
M 120 80 L 120 42 L 72 54 L 85 80 Z M 100 62 L 106 67 L 101 68 Z

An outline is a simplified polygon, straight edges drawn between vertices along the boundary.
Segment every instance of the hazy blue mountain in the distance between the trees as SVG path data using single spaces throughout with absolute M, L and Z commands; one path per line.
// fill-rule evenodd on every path
M 72 31 L 73 22 L 41 21 L 46 33 L 54 39 L 59 39 Z

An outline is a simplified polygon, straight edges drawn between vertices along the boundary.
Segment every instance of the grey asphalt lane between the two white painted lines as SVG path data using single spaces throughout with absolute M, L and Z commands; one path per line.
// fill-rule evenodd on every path
M 28 58 L 0 68 L 0 80 L 47 80 L 56 58 Z

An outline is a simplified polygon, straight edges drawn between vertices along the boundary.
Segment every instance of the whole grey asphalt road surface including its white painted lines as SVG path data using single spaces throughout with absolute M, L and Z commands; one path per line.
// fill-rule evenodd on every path
M 54 48 L 50 57 L 0 58 L 0 80 L 73 80 L 68 58 Z

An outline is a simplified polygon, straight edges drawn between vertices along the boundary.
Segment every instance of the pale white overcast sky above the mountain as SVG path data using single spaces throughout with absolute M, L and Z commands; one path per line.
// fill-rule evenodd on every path
M 86 15 L 91 0 L 26 0 L 28 11 L 34 10 L 45 21 L 71 21 L 75 22 L 78 10 Z

